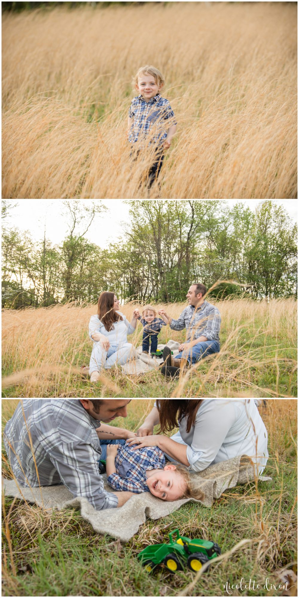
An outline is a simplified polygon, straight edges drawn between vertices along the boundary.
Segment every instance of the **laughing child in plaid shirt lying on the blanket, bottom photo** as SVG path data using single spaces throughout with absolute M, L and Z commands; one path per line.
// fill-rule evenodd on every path
M 203 499 L 202 492 L 191 489 L 188 469 L 173 463 L 166 465 L 164 453 L 158 447 L 133 450 L 127 445 L 109 444 L 106 473 L 114 490 L 151 492 L 163 501 Z

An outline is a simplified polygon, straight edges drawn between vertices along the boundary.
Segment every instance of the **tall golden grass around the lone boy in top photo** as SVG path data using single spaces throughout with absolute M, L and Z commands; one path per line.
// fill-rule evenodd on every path
M 297 197 L 296 3 L 177 2 L 5 14 L 2 197 Z M 159 191 L 132 166 L 139 66 L 178 120 Z M 97 122 L 100 117 L 100 121 Z

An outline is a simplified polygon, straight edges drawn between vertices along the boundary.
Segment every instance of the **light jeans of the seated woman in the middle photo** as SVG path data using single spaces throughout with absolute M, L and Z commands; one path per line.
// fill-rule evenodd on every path
M 109 370 L 113 365 L 126 364 L 135 358 L 135 347 L 131 343 L 111 344 L 108 351 L 100 346 L 100 341 L 93 344 L 89 362 L 89 374 L 104 368 Z

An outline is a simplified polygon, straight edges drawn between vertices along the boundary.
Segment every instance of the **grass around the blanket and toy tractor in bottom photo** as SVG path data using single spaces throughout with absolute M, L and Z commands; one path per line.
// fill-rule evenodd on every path
M 2 417 L 7 419 L 16 401 L 2 404 Z M 127 428 L 138 426 L 148 404 L 130 403 Z M 188 503 L 168 517 L 147 520 L 126 543 L 94 532 L 78 511 L 44 512 L 5 498 L 10 536 L 3 525 L 2 596 L 182 596 L 194 582 L 194 573 L 172 575 L 158 569 L 150 576 L 137 559 L 147 545 L 167 541 L 167 533 L 176 527 L 182 535 L 218 542 L 222 554 L 243 539 L 250 541 L 213 563 L 187 595 L 225 596 L 225 582 L 236 584 L 242 577 L 262 585 L 269 578 L 268 586 L 277 586 L 282 570 L 297 571 L 297 401 L 270 399 L 261 414 L 269 431 L 264 474 L 271 475 L 271 483 L 228 490 L 212 508 Z M 123 423 L 115 420 L 115 425 Z M 10 476 L 7 466 L 4 475 Z M 233 591 L 233 596 L 281 594 L 282 590 L 263 587 L 258 593 Z

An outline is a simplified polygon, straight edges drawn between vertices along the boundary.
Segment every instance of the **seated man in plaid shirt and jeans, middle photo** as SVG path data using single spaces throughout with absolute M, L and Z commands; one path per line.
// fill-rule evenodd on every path
M 164 347 L 161 373 L 165 376 L 179 376 L 181 368 L 190 367 L 212 353 L 219 353 L 221 317 L 217 307 L 205 300 L 205 295 L 205 285 L 193 283 L 187 292 L 188 306 L 177 320 L 170 318 L 164 309 L 158 311 L 168 319 L 172 330 L 187 329 L 187 340 L 179 345 L 179 355 L 173 358 L 169 347 Z

